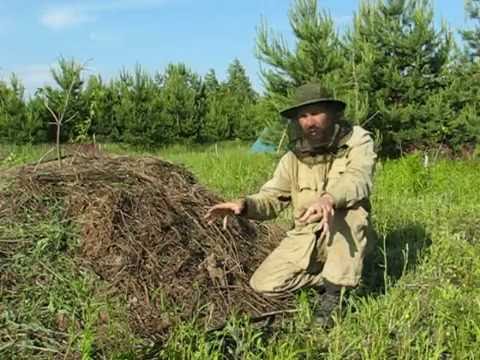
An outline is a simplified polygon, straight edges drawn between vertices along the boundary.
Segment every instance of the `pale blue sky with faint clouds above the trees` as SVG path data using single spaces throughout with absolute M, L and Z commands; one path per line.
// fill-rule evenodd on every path
M 224 78 L 238 58 L 261 90 L 254 56 L 262 18 L 289 35 L 290 0 L 0 0 L 0 79 L 11 72 L 31 92 L 51 82 L 60 56 L 88 62 L 109 78 L 135 64 L 148 71 L 184 62 L 201 75 L 214 68 Z M 358 0 L 319 0 L 339 28 L 351 22 Z M 464 26 L 462 0 L 434 0 L 437 22 Z

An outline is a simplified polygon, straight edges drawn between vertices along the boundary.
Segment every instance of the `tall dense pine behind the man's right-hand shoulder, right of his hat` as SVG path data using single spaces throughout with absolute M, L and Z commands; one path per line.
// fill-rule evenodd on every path
M 444 86 L 451 34 L 434 26 L 429 0 L 363 1 L 346 41 L 344 92 L 348 114 L 381 133 L 383 152 L 394 154 L 438 140 L 428 117 L 430 96 Z

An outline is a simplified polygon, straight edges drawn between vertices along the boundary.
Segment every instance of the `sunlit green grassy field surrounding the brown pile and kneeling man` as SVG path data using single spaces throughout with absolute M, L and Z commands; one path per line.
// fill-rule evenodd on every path
M 256 191 L 277 161 L 235 143 L 105 149 L 184 164 L 226 198 Z M 34 162 L 46 150 L 2 147 L 0 168 Z M 333 329 L 310 324 L 311 297 L 303 292 L 298 313 L 273 334 L 232 319 L 227 337 L 212 338 L 184 323 L 156 357 L 480 358 L 480 162 L 440 160 L 424 168 L 412 155 L 378 165 L 372 199 L 378 248 Z M 145 342 L 125 323 L 125 299 L 109 296 L 106 284 L 72 261 L 79 239 L 60 210 L 53 206 L 42 221 L 32 215 L 22 224 L 0 218 L 0 359 L 138 358 Z M 6 257 L 13 243 L 21 246 Z

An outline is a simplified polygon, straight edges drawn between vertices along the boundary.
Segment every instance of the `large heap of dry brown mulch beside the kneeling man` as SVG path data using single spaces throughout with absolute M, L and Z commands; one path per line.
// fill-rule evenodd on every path
M 230 218 L 225 229 L 221 221 L 207 225 L 206 210 L 222 199 L 183 167 L 149 157 L 76 156 L 62 167 L 50 161 L 10 175 L 14 185 L 2 197 L 10 197 L 13 212 L 41 210 L 38 198 L 63 202 L 81 231 L 78 261 L 127 297 L 129 322 L 142 335 L 156 337 L 192 317 L 213 327 L 233 312 L 256 316 L 289 301 L 248 286 L 282 230 L 242 218 Z

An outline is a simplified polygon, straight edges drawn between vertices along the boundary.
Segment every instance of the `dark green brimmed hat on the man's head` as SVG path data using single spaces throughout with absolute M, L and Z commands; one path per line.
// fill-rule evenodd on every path
M 347 106 L 343 101 L 333 98 L 320 84 L 308 83 L 298 87 L 292 98 L 293 105 L 280 111 L 280 115 L 295 119 L 298 111 L 307 105 L 329 104 L 343 111 Z

